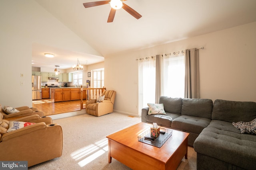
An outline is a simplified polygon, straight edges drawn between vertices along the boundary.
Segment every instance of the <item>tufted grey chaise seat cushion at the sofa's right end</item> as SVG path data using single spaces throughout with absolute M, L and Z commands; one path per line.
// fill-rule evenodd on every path
M 256 135 L 241 134 L 231 122 L 212 120 L 196 138 L 194 150 L 245 169 L 256 166 Z

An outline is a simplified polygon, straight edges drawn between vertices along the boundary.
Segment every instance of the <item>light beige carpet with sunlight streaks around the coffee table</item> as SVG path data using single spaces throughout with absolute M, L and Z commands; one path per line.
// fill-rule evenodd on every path
M 108 163 L 107 135 L 141 122 L 141 117 L 110 113 L 101 117 L 88 114 L 55 119 L 62 126 L 64 143 L 60 158 L 29 167 L 29 170 L 131 170 L 112 158 Z M 196 152 L 188 148 L 178 170 L 196 170 Z

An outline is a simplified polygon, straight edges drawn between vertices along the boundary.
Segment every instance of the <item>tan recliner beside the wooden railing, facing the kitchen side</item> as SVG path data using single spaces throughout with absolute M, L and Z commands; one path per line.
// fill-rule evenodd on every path
M 101 116 L 113 112 L 116 92 L 114 90 L 105 90 L 101 96 L 105 96 L 101 102 L 97 102 L 96 99 L 86 101 L 86 113 Z

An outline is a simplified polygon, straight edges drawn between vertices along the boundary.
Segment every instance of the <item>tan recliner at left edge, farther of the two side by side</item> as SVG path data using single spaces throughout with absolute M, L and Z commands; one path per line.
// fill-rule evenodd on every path
M 11 114 L 6 114 L 4 113 L 4 108 L 0 104 L 0 116 L 6 120 L 13 120 L 13 119 L 18 119 L 21 117 L 26 117 L 29 115 L 39 115 L 40 117 L 44 116 L 44 113 L 42 111 L 38 111 L 36 108 L 30 108 L 28 106 L 22 106 L 22 107 L 16 107 L 14 109 L 17 109 L 19 112 L 16 113 L 11 113 Z

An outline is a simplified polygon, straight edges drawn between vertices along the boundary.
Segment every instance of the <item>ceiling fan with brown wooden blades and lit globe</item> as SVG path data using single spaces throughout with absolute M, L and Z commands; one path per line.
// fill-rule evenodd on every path
M 124 4 L 123 1 L 125 0 L 103 0 L 103 1 L 96 1 L 96 2 L 87 2 L 87 3 L 83 3 L 83 5 L 85 8 L 90 8 L 93 6 L 105 5 L 110 3 L 111 10 L 108 16 L 108 22 L 113 22 L 116 14 L 116 10 L 120 8 L 123 8 L 124 10 L 126 10 L 129 14 L 131 14 L 137 20 L 142 17 L 138 12 L 136 12 L 130 6 Z

